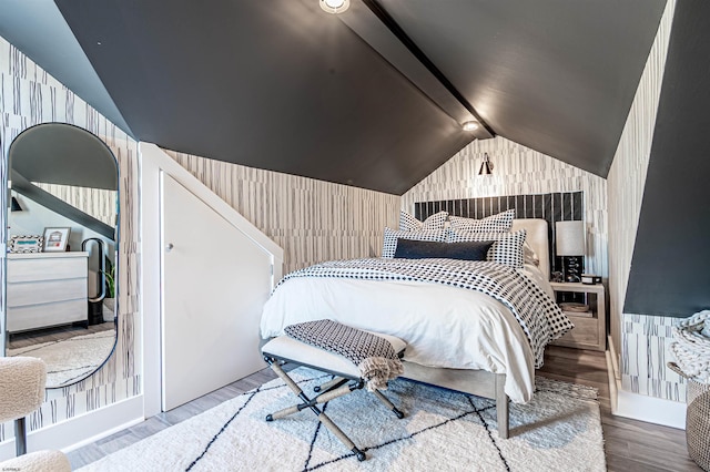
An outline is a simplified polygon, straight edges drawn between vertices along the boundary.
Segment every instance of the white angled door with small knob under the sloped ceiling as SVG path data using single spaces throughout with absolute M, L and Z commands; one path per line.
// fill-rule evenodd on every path
M 265 367 L 258 322 L 272 256 L 165 173 L 162 409 Z

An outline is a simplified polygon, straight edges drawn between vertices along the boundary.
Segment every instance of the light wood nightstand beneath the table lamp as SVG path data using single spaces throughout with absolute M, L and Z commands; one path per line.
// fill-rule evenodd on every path
M 607 311 L 606 293 L 604 285 L 586 285 L 579 283 L 551 281 L 550 285 L 559 297 L 561 293 L 585 294 L 589 305 L 588 312 L 565 311 L 565 315 L 575 324 L 575 329 L 552 342 L 557 346 L 566 346 L 577 349 L 592 349 L 604 351 L 607 349 Z

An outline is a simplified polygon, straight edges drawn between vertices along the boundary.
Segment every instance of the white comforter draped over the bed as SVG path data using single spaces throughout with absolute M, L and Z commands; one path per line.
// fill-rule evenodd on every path
M 546 284 L 536 267 L 525 273 Z M 397 336 L 407 342 L 409 362 L 506 373 L 514 402 L 532 398 L 535 359 L 525 332 L 508 308 L 478 291 L 419 281 L 292 278 L 264 306 L 262 337 L 317 319 Z

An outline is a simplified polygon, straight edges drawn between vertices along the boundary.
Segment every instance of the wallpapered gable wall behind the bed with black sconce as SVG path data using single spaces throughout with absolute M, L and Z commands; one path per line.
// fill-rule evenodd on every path
M 478 175 L 485 153 L 494 164 L 491 175 Z M 585 193 L 586 271 L 606 277 L 607 182 L 505 137 L 464 147 L 404 194 L 402 208 L 413 212 L 416 202 L 576 191 Z

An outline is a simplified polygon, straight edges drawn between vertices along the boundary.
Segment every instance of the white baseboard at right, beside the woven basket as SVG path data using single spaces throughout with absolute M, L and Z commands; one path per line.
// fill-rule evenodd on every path
M 621 376 L 613 343 L 609 340 L 607 351 L 607 376 L 609 378 L 609 396 L 611 397 L 611 414 L 665 427 L 686 429 L 686 403 L 649 397 L 623 390 Z

